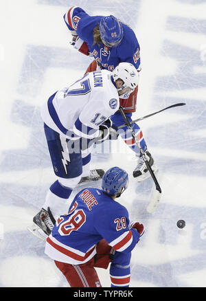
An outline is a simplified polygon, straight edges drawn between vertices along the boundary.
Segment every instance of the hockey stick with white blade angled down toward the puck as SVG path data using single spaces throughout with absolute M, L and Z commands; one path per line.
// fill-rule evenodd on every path
M 161 187 L 159 186 L 159 183 L 157 181 L 157 178 L 155 177 L 155 174 L 148 162 L 148 159 L 146 158 L 146 154 L 144 153 L 144 150 L 141 148 L 141 145 L 139 143 L 139 141 L 137 140 L 137 137 L 135 136 L 135 132 L 133 131 L 133 127 L 131 126 L 128 118 L 126 117 L 125 113 L 124 113 L 124 109 L 123 107 L 119 107 L 119 111 L 120 113 L 122 114 L 122 117 L 124 118 L 124 121 L 126 123 L 126 125 L 128 126 L 128 129 L 130 130 L 134 140 L 135 140 L 135 144 L 138 146 L 139 150 L 140 150 L 140 153 L 141 153 L 141 156 L 143 157 L 144 159 L 144 162 L 150 172 L 150 175 L 153 179 L 153 181 L 155 182 L 155 187 L 156 187 L 156 191 L 155 191 L 155 196 L 153 197 L 152 201 L 150 201 L 148 207 L 147 207 L 147 211 L 149 213 L 152 213 L 155 211 L 155 209 L 157 208 L 157 205 L 159 203 L 159 200 L 160 200 L 160 197 L 161 197 Z

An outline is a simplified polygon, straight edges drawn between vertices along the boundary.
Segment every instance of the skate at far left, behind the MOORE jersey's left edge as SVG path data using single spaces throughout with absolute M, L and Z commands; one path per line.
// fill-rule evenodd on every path
M 32 234 L 42 241 L 46 241 L 47 236 L 51 234 L 52 228 L 56 223 L 49 207 L 47 210 L 42 208 L 41 211 L 34 216 L 33 222 L 34 224 L 31 227 L 27 227 L 27 230 L 32 232 Z

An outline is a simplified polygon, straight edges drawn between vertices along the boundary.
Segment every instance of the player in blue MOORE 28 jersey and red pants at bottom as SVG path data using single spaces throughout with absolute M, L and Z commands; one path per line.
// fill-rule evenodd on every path
M 131 251 L 144 225 L 130 223 L 128 210 L 116 201 L 128 186 L 119 167 L 107 170 L 102 190 L 84 188 L 60 215 L 47 237 L 45 254 L 54 260 L 71 287 L 102 287 L 95 267 L 107 269 L 111 287 L 129 287 Z

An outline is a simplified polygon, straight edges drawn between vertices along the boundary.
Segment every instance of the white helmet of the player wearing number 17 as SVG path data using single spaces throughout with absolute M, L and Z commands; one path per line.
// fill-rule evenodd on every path
M 124 85 L 121 89 L 130 87 L 134 91 L 139 83 L 139 73 L 135 66 L 130 63 L 119 63 L 112 71 L 112 76 L 114 80 L 123 80 Z

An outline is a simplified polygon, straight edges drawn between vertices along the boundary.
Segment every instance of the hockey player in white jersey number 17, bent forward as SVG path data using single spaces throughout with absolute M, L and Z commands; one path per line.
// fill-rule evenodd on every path
M 139 75 L 130 63 L 120 63 L 122 78 L 108 70 L 94 71 L 56 91 L 41 109 L 45 136 L 56 181 L 50 186 L 45 203 L 34 224 L 50 234 L 54 219 L 62 213 L 65 201 L 78 183 L 102 178 L 104 170 L 90 170 L 93 143 L 108 137 L 104 122 L 119 109 L 119 95 L 133 91 Z

